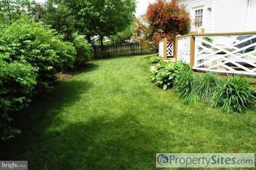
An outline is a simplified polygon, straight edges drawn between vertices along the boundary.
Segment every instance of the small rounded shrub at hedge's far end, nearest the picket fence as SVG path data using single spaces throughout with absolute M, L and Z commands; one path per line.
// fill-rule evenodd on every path
M 87 42 L 84 36 L 73 34 L 73 38 L 73 44 L 76 48 L 76 59 L 74 65 L 75 67 L 78 67 L 92 59 L 92 48 L 91 44 Z

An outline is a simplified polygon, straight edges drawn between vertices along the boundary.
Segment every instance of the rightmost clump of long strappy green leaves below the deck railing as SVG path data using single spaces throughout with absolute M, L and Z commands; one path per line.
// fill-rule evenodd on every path
M 220 106 L 224 112 L 242 112 L 246 108 L 254 108 L 256 97 L 252 81 L 242 76 L 228 76 L 216 86 L 211 104 Z

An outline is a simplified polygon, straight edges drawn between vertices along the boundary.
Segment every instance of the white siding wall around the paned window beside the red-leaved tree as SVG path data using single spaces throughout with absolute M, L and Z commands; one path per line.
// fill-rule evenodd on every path
M 190 12 L 190 16 L 192 15 L 192 9 L 200 6 L 204 6 L 203 10 L 203 26 L 205 28 L 205 32 L 214 32 L 213 27 L 213 17 L 214 17 L 214 0 L 177 0 L 179 4 L 185 4 L 186 9 Z M 212 11 L 208 11 L 207 8 L 211 8 Z M 191 18 L 194 20 L 194 18 Z M 192 30 L 193 31 L 193 28 Z

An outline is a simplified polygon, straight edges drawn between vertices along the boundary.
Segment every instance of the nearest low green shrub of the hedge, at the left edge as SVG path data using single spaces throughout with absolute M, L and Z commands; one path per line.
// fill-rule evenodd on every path
M 1 55 L 4 58 L 3 55 Z M 36 86 L 36 69 L 30 64 L 7 63 L 0 57 L 0 138 L 13 138 L 20 130 L 8 125 L 12 118 L 10 111 L 22 110 L 31 101 L 34 86 Z

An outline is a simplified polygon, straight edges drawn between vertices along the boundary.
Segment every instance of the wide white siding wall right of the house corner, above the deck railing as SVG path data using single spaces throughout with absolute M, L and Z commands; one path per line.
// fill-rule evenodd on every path
M 215 0 L 214 32 L 246 31 L 247 9 L 248 0 Z

